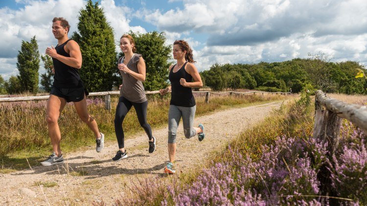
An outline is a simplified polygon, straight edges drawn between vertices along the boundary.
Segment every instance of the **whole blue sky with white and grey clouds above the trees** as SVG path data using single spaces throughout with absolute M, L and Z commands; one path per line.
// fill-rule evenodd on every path
M 93 0 L 96 2 L 95 0 Z M 0 0 L 0 75 L 17 75 L 22 41 L 36 36 L 39 51 L 57 45 L 53 17 L 76 30 L 86 0 Z M 333 62 L 367 65 L 367 0 L 99 0 L 119 37 L 164 32 L 184 39 L 199 71 L 218 64 L 256 64 L 323 53 Z M 45 73 L 41 61 L 40 74 Z

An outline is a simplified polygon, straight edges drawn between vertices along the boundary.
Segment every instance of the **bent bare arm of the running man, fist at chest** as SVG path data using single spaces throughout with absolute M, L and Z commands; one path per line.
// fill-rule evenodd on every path
M 53 46 L 51 46 L 51 48 L 46 48 L 46 54 L 70 67 L 76 69 L 82 68 L 83 59 L 79 45 L 75 41 L 71 40 L 68 42 L 68 44 L 65 45 L 64 49 L 67 53 L 69 53 L 70 57 L 58 54 Z

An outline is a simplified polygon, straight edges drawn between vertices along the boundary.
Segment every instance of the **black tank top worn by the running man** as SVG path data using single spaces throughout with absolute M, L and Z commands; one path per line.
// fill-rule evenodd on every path
M 55 47 L 56 52 L 62 56 L 70 57 L 65 51 L 65 45 L 70 41 L 66 41 L 62 45 Z M 55 69 L 55 76 L 53 77 L 53 86 L 58 88 L 78 88 L 83 87 L 83 83 L 80 80 L 78 69 L 70 67 L 61 61 L 52 58 L 53 67 Z

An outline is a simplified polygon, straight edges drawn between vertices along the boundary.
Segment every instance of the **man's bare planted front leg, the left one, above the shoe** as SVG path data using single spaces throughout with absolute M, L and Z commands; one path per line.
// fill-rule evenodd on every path
M 61 148 L 60 148 L 61 133 L 58 124 L 58 119 L 65 105 L 66 100 L 64 98 L 52 94 L 47 100 L 46 122 L 48 128 L 48 135 L 50 136 L 53 151 L 55 152 L 55 155 L 57 157 L 61 156 Z

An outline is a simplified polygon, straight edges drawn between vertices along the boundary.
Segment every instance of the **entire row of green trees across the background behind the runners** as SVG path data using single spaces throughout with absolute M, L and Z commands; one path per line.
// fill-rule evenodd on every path
M 117 59 L 123 55 L 115 51 L 114 31 L 107 23 L 103 8 L 98 2 L 87 2 L 79 11 L 78 32 L 71 35 L 82 52 L 83 65 L 79 70 L 84 85 L 90 92 L 109 91 L 121 83 Z M 142 54 L 146 64 L 147 91 L 164 88 L 168 84 L 168 67 L 172 63 L 172 46 L 166 44 L 164 33 L 153 31 L 145 34 L 129 31 L 136 41 L 137 53 Z M 122 34 L 121 34 L 122 35 Z M 39 75 L 40 58 L 46 73 Z M 52 59 L 38 51 L 36 37 L 30 42 L 22 41 L 17 56 L 19 75 L 4 81 L 0 75 L 0 94 L 39 92 L 38 85 L 49 92 L 53 79 Z M 301 92 L 320 89 L 323 92 L 367 94 L 367 81 L 355 78 L 357 69 L 366 71 L 359 62 L 331 62 L 323 53 L 309 54 L 308 58 L 290 61 L 257 64 L 214 64 L 200 72 L 204 86 L 212 90 L 250 89 L 267 92 Z M 365 72 L 366 73 L 366 72 Z M 39 77 L 41 81 L 39 82 Z

